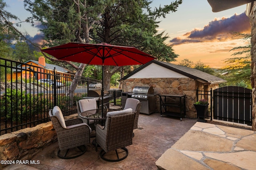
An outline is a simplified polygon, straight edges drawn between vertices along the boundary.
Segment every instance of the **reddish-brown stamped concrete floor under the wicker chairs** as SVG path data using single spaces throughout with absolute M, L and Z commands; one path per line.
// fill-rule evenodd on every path
M 100 158 L 100 150 L 94 145 L 82 156 L 64 160 L 57 156 L 58 142 L 46 146 L 31 160 L 39 160 L 40 164 L 8 166 L 7 169 L 21 170 L 37 168 L 39 170 L 156 170 L 156 160 L 174 143 L 176 143 L 194 124 L 196 119 L 161 117 L 160 113 L 140 114 L 138 129 L 134 129 L 133 144 L 128 146 L 129 155 L 120 162 L 106 162 Z M 94 138 L 91 138 L 91 143 Z

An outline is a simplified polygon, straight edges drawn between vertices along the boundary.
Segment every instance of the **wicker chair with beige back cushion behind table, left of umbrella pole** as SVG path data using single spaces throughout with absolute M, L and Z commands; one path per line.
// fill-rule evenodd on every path
M 82 99 L 76 102 L 76 108 L 78 113 L 78 118 L 82 119 L 84 123 L 87 123 L 87 125 L 90 126 L 92 131 L 95 130 L 95 121 L 94 120 L 86 120 L 80 116 L 80 113 L 92 110 L 92 109 L 98 109 L 97 102 L 95 99 Z

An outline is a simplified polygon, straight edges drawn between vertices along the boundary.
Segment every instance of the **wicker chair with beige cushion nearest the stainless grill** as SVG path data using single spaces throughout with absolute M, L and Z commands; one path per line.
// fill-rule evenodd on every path
M 141 102 L 138 99 L 128 98 L 126 100 L 124 109 L 132 108 L 132 111 L 135 113 L 134 127 L 133 129 L 138 129 L 138 118 L 140 114 Z M 134 133 L 133 133 L 134 135 Z

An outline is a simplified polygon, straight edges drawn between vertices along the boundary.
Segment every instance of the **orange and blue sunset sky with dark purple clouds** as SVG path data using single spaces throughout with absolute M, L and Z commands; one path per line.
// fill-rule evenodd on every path
M 174 0 L 153 0 L 152 8 L 164 6 Z M 18 16 L 24 21 L 30 13 L 24 10 L 23 0 L 5 0 L 9 6 L 6 10 Z M 207 0 L 183 0 L 177 12 L 160 18 L 160 32 L 165 31 L 169 35 L 166 44 L 173 45 L 174 52 L 179 55 L 178 64 L 183 59 L 220 68 L 224 65 L 224 59 L 232 57 L 233 47 L 245 45 L 241 39 L 236 39 L 232 31 L 250 33 L 249 18 L 244 14 L 246 5 L 212 12 Z M 32 28 L 29 24 L 23 24 L 20 31 L 27 31 L 30 38 L 40 41 L 41 35 L 38 27 Z

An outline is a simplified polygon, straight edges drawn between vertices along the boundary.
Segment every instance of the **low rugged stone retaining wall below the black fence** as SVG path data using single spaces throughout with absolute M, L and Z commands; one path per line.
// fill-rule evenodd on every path
M 0 136 L 1 160 L 30 160 L 49 143 L 57 140 L 52 122 L 42 123 Z M 6 165 L 1 164 L 0 167 Z

